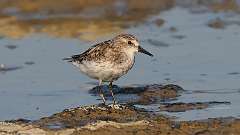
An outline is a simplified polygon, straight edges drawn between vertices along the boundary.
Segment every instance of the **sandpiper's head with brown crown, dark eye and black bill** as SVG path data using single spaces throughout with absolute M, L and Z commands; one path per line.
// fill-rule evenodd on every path
M 137 38 L 131 34 L 121 34 L 113 38 L 113 42 L 123 46 L 125 51 L 130 54 L 141 52 L 149 56 L 153 56 L 150 52 L 143 49 L 137 40 Z

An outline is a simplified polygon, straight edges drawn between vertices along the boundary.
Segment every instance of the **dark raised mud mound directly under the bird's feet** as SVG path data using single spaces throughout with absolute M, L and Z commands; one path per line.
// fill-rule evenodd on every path
M 85 126 L 97 121 L 130 122 L 144 118 L 133 106 L 124 105 L 93 105 L 73 109 L 66 109 L 63 112 L 50 117 L 41 118 L 33 122 L 42 128 L 74 128 Z

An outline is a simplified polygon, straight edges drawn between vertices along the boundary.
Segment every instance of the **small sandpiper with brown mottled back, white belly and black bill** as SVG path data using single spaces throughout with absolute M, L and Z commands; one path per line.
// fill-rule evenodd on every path
M 111 40 L 92 46 L 82 54 L 63 60 L 71 62 L 90 78 L 99 80 L 98 92 L 104 104 L 106 100 L 100 86 L 102 82 L 109 82 L 109 90 L 115 104 L 112 83 L 132 68 L 136 52 L 153 56 L 139 45 L 135 36 L 120 34 Z

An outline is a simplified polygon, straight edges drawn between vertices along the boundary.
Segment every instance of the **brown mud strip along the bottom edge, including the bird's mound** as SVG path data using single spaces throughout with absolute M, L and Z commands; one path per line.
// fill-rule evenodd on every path
M 1 134 L 169 134 L 230 135 L 240 133 L 240 120 L 215 118 L 173 121 L 126 105 L 93 105 L 64 110 L 36 121 L 0 123 Z

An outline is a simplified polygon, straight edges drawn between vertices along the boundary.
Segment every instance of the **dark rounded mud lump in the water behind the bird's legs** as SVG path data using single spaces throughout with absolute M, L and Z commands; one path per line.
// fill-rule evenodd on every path
M 101 87 L 103 90 L 104 96 L 109 98 L 111 97 L 111 93 L 108 90 L 107 86 Z M 164 100 L 173 100 L 176 97 L 180 96 L 180 93 L 183 92 L 184 89 L 178 85 L 168 84 L 168 85 L 160 85 L 160 84 L 152 84 L 146 86 L 139 87 L 117 87 L 113 86 L 113 93 L 115 95 L 129 95 L 133 94 L 137 96 L 134 100 L 130 100 L 128 104 L 139 104 L 139 105 L 150 105 L 157 103 L 158 101 Z M 98 96 L 98 88 L 95 87 L 89 90 L 90 94 L 94 96 Z M 126 100 L 126 99 L 125 99 Z

